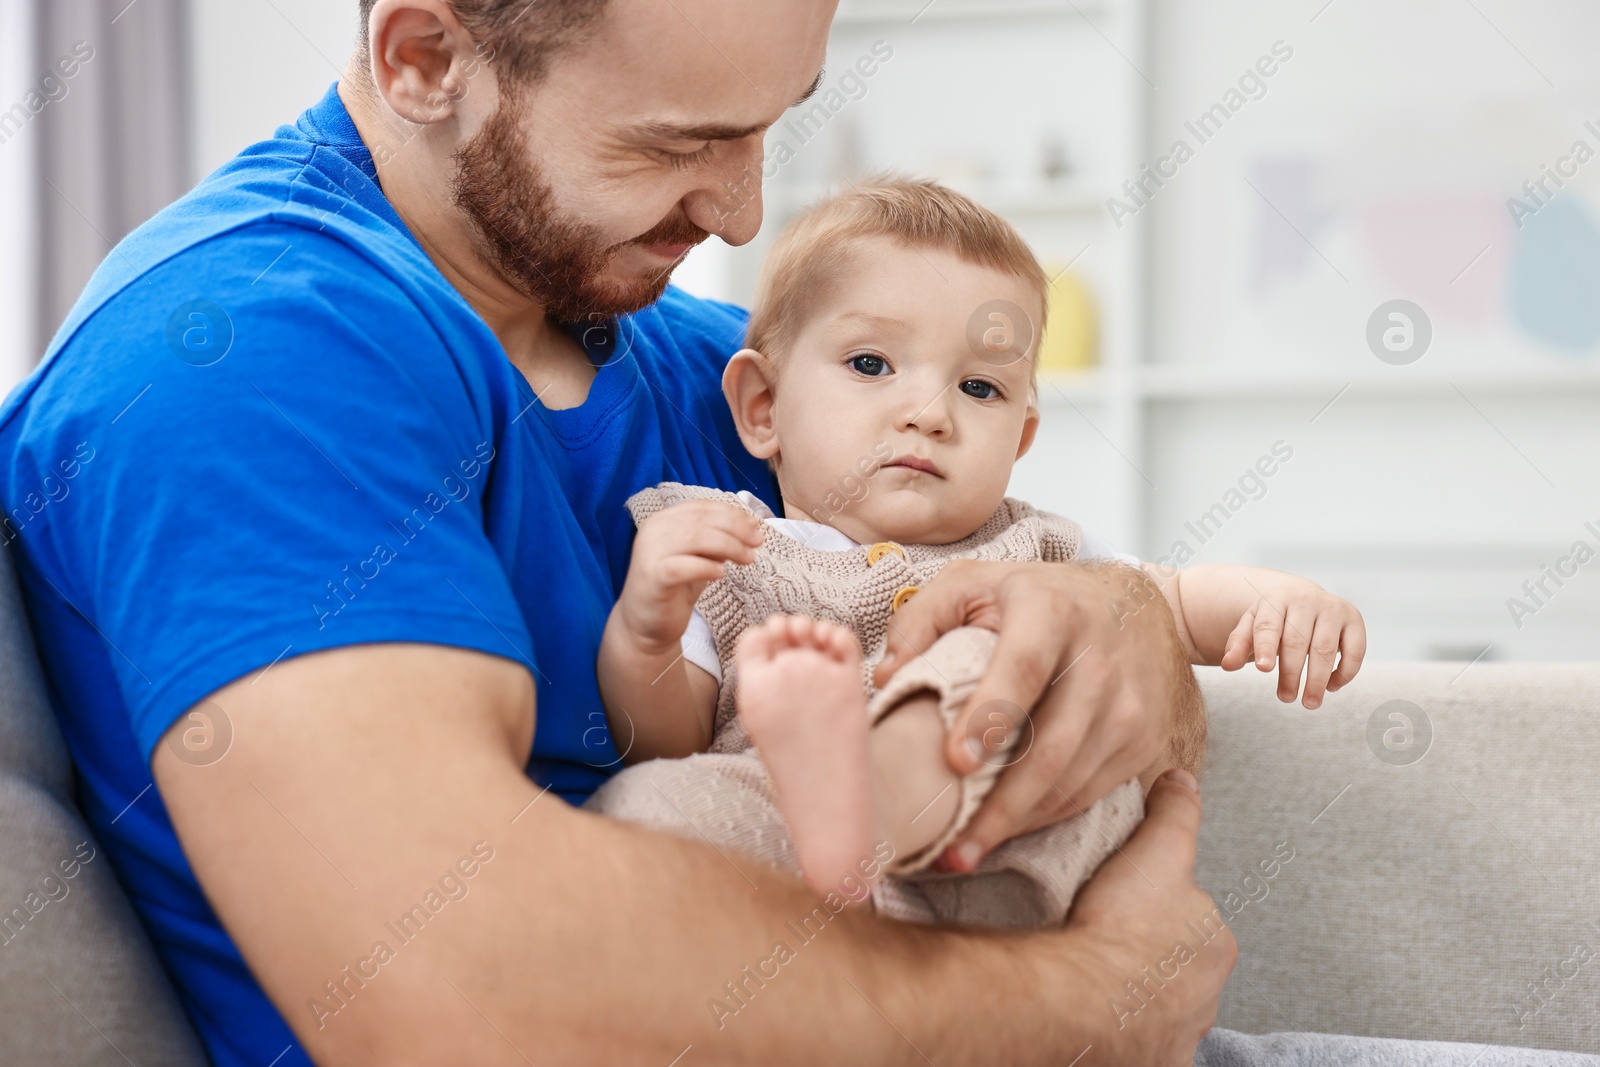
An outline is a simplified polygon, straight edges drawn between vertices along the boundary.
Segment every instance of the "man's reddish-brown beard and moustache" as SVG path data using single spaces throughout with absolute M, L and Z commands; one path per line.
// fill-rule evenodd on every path
M 520 293 L 557 322 L 627 315 L 654 304 L 672 266 L 654 277 L 606 280 L 611 258 L 634 245 L 698 245 L 706 230 L 678 214 L 643 237 L 608 245 L 600 230 L 555 205 L 555 190 L 526 150 L 518 109 L 502 104 L 456 152 L 454 200 L 482 250 Z

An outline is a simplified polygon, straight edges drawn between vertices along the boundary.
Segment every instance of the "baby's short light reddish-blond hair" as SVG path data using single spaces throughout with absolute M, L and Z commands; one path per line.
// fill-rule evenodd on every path
M 850 264 L 853 245 L 872 237 L 947 251 L 1019 278 L 1038 296 L 1035 341 L 1043 334 L 1050 280 L 1016 227 L 938 182 L 874 178 L 805 210 L 782 232 L 762 266 L 746 344 L 781 358 L 816 296 Z

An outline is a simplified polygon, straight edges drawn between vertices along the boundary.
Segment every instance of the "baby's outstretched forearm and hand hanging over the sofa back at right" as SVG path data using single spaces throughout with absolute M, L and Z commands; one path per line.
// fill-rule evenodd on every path
M 1306 675 L 1306 707 L 1362 669 L 1366 624 L 1350 601 L 1317 582 L 1261 566 L 1210 563 L 1182 571 L 1146 565 L 1166 593 L 1189 662 L 1238 670 L 1278 665 L 1278 699 L 1293 702 Z M 1338 669 L 1334 669 L 1338 659 Z

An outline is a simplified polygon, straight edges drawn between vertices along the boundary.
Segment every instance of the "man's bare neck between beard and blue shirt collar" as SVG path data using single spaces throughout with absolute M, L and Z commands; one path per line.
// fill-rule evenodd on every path
M 520 293 L 483 258 L 470 224 L 450 197 L 453 165 L 448 160 L 454 146 L 445 139 L 454 136 L 454 120 L 427 126 L 406 123 L 376 94 L 357 88 L 360 77 L 365 75 L 346 72 L 339 80 L 339 99 L 363 144 L 370 149 L 400 146 L 387 154 L 374 152 L 389 206 L 445 280 L 494 331 L 506 357 L 539 400 L 549 408 L 581 405 L 595 374 L 582 346 L 546 317 L 544 306 Z M 376 163 L 378 155 L 384 163 Z

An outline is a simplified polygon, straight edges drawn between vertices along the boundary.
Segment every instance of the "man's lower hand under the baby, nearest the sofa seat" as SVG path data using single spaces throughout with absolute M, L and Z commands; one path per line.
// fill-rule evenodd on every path
M 1096 1043 L 1085 1062 L 1187 1067 L 1216 1021 L 1238 945 L 1194 883 L 1200 830 L 1194 776 L 1168 771 L 1146 808 L 1144 822 L 1083 886 L 1067 917 L 1067 929 L 1101 960 L 1088 977 L 1085 1009 L 1107 1011 L 1110 1024 L 1109 1040 Z

